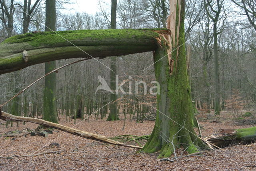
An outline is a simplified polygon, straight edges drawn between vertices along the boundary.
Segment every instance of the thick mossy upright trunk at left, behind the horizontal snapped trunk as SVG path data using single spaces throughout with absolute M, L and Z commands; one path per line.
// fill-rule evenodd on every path
M 56 31 L 56 2 L 46 0 L 45 31 Z M 56 68 L 56 61 L 45 63 L 45 74 Z M 44 120 L 58 123 L 56 107 L 56 73 L 45 78 L 44 85 Z

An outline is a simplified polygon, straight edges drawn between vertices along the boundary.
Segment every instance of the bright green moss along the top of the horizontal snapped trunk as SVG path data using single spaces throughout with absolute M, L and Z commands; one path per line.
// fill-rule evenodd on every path
M 83 38 L 91 38 L 92 40 L 101 40 L 105 38 L 120 38 L 125 36 L 126 38 L 145 38 L 145 34 L 149 38 L 159 36 L 154 32 L 158 29 L 108 29 L 108 30 L 75 30 L 75 31 L 58 31 L 58 32 L 37 32 L 26 33 L 22 35 L 13 36 L 4 40 L 1 44 L 15 44 L 26 42 L 31 46 L 38 47 L 42 44 L 49 46 L 56 45 L 58 43 L 79 40 Z M 163 29 L 159 29 L 163 30 Z

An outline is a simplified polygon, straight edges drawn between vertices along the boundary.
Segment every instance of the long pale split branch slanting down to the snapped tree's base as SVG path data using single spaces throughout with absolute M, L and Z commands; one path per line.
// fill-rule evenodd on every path
M 44 121 L 42 119 L 37 119 L 37 118 L 33 118 L 33 117 L 14 116 L 14 115 L 12 115 L 10 113 L 6 113 L 4 111 L 2 111 L 0 113 L 0 119 L 2 119 L 2 120 L 11 120 L 11 121 L 32 122 L 32 123 L 36 123 L 36 124 L 43 125 L 43 126 L 46 126 L 46 127 L 52 127 L 52 128 L 55 128 L 55 129 L 59 129 L 59 130 L 64 131 L 64 132 L 68 132 L 68 133 L 71 133 L 73 135 L 77 135 L 79 137 L 92 139 L 92 140 L 95 140 L 95 141 L 100 141 L 100 142 L 103 142 L 103 143 L 120 145 L 120 146 L 124 146 L 124 147 L 132 147 L 132 148 L 136 148 L 136 149 L 141 149 L 142 148 L 142 147 L 139 147 L 139 146 L 136 146 L 136 145 L 126 145 L 126 144 L 120 143 L 118 141 L 108 139 L 105 136 L 89 133 L 89 132 L 86 132 L 86 131 L 81 131 L 81 130 L 74 129 L 74 128 L 71 128 L 71 127 L 67 127 L 67 126 L 64 126 L 64 125 L 60 125 L 58 123 L 52 123 L 52 122 L 49 122 L 49 121 Z

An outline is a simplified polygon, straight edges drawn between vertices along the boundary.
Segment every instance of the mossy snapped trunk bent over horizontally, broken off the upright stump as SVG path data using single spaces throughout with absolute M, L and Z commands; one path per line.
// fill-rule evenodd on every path
M 160 32 L 168 29 L 76 30 L 13 36 L 0 44 L 0 74 L 54 60 L 154 51 Z

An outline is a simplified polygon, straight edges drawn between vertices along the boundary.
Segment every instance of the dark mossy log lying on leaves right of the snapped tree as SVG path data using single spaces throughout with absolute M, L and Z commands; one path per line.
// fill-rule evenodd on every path
M 243 129 L 222 129 L 220 134 L 212 135 L 210 137 L 206 137 L 205 139 L 218 147 L 254 143 L 256 141 L 256 127 Z

